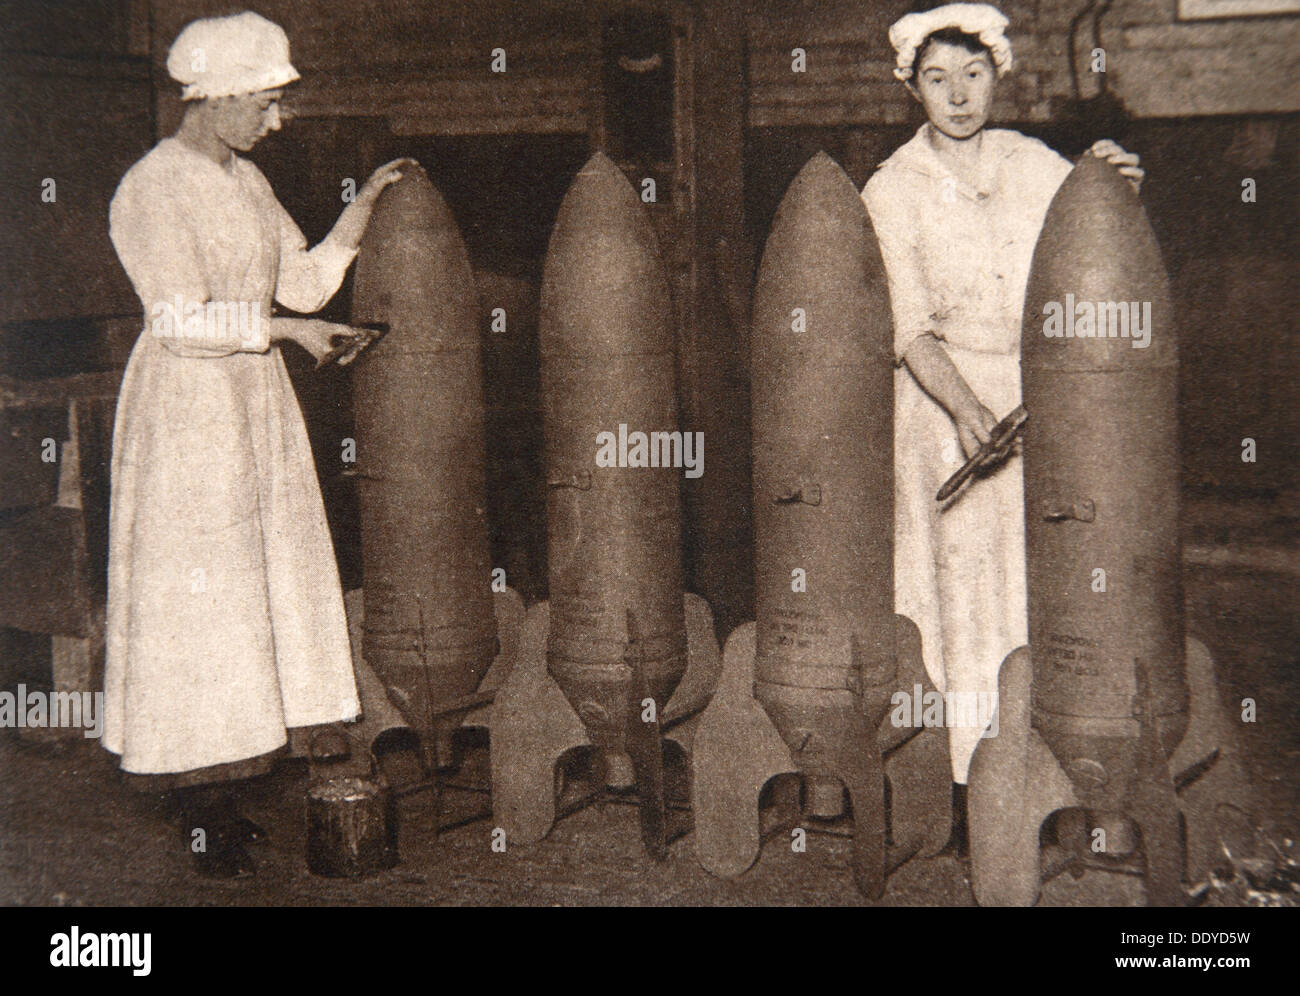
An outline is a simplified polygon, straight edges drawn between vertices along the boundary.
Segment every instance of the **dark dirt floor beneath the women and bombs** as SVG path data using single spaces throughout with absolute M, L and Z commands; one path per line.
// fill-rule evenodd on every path
M 1213 544 L 1214 537 L 1206 537 Z M 1260 819 L 1280 839 L 1300 833 L 1300 576 L 1232 567 L 1188 567 L 1188 629 L 1210 648 L 1221 693 L 1239 711 Z M 5 687 L 12 687 L 8 681 Z M 469 753 L 462 780 L 485 780 L 484 750 Z M 490 820 L 436 832 L 429 793 L 398 804 L 400 863 L 360 880 L 306 869 L 306 763 L 289 762 L 256 783 L 246 806 L 270 841 L 251 848 L 251 879 L 212 883 L 188 869 L 177 826 L 157 797 L 127 791 L 98 741 L 31 741 L 0 731 L 0 901 L 22 905 L 857 905 L 849 841 L 814 835 L 805 853 L 774 837 L 745 875 L 724 882 L 696 862 L 692 837 L 667 861 L 641 846 L 637 813 L 603 804 L 564 817 L 533 846 L 494 853 Z M 442 822 L 484 805 L 448 793 Z M 916 859 L 889 879 L 883 905 L 974 905 L 968 866 L 953 857 Z M 1238 901 L 1240 897 L 1232 901 Z M 1046 883 L 1041 905 L 1136 905 L 1135 875 L 1086 871 Z M 1225 901 L 1226 905 L 1226 901 Z

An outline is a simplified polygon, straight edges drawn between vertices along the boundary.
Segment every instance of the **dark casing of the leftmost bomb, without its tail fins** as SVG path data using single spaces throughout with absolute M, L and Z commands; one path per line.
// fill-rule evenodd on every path
M 429 767 L 446 767 L 499 659 L 497 615 L 521 615 L 521 603 L 510 592 L 494 607 L 473 278 L 455 217 L 421 168 L 380 195 L 352 300 L 354 321 L 390 329 L 352 368 L 363 657 Z

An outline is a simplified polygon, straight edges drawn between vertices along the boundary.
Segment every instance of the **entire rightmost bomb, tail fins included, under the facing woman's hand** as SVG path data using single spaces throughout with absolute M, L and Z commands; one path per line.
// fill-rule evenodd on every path
M 1183 631 L 1165 268 L 1132 189 L 1091 155 L 1043 224 L 1020 358 L 1030 645 L 1002 663 L 998 735 L 971 763 L 975 896 L 1032 904 L 1058 813 L 1053 870 L 1144 870 L 1149 902 L 1178 905 L 1209 870 L 1216 802 L 1244 787 Z

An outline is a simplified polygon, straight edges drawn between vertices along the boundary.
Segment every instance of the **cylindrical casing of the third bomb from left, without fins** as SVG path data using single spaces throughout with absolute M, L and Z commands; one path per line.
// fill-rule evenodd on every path
M 751 345 L 755 679 L 792 748 L 820 710 L 889 701 L 892 328 L 870 218 L 818 155 L 772 222 Z

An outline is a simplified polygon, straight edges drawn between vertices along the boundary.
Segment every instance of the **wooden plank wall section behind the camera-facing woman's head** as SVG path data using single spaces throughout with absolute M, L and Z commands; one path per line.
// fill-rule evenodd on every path
M 896 125 L 918 121 L 893 78 L 888 30 L 914 7 L 880 3 L 751 4 L 749 74 L 751 127 Z M 1002 0 L 1015 69 L 998 88 L 996 121 L 1048 122 L 1072 95 L 1070 25 L 1087 0 Z M 1083 96 L 1098 81 L 1087 70 L 1095 46 L 1106 52 L 1109 86 L 1138 117 L 1284 113 L 1300 109 L 1300 17 L 1180 22 L 1178 0 L 1115 0 L 1093 42 L 1076 38 L 1084 59 Z M 792 72 L 792 49 L 807 56 Z

